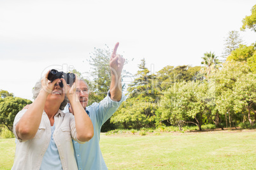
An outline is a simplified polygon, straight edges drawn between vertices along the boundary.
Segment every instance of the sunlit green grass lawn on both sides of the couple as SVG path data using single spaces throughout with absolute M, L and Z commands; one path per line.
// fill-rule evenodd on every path
M 109 169 L 256 169 L 256 130 L 102 133 L 100 145 Z M 0 139 L 0 152 L 0 169 L 11 169 L 15 139 Z

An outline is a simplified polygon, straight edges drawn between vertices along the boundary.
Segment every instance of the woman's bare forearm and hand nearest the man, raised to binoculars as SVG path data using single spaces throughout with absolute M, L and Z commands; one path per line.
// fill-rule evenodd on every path
M 62 79 L 62 82 L 64 83 L 64 87 L 67 87 L 66 95 L 73 108 L 76 122 L 76 138 L 79 141 L 89 141 L 94 136 L 94 127 L 92 121 L 90 121 L 89 115 L 85 112 L 85 109 L 82 107 L 76 95 L 76 82 L 73 83 L 71 88 L 67 86 L 64 79 Z

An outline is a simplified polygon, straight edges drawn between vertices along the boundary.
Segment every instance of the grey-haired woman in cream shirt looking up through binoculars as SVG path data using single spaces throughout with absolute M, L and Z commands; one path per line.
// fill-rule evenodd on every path
M 33 88 L 32 105 L 15 117 L 13 133 L 18 141 L 12 169 L 77 169 L 71 139 L 85 143 L 94 135 L 76 95 L 76 83 L 70 88 L 64 79 L 51 82 L 48 74 Z M 61 111 L 68 100 L 74 115 Z

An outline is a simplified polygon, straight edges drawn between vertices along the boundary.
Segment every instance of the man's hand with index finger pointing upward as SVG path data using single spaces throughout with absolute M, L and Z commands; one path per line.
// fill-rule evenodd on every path
M 125 59 L 117 54 L 117 48 L 119 46 L 119 42 L 115 44 L 115 48 L 113 49 L 113 53 L 110 57 L 110 69 L 112 75 L 118 75 L 118 77 L 121 75 Z

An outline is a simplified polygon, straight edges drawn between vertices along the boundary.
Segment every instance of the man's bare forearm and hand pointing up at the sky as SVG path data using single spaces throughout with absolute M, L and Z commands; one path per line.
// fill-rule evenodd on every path
M 111 84 L 110 84 L 110 95 L 111 100 L 120 101 L 122 98 L 122 82 L 121 73 L 124 67 L 125 59 L 117 54 L 117 48 L 119 42 L 115 44 L 113 53 L 110 57 L 110 69 L 111 69 Z

